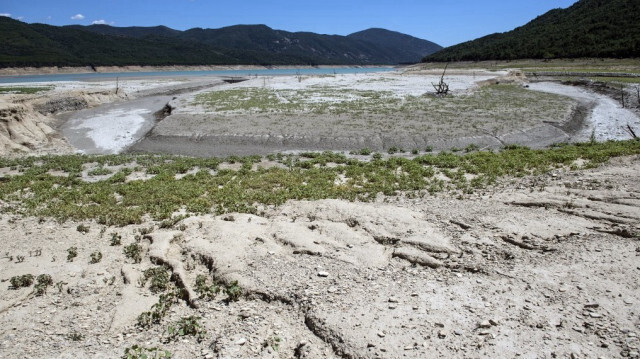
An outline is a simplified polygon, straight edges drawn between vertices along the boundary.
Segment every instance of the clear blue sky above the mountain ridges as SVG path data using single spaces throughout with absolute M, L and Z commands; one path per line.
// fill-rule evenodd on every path
M 382 27 L 443 46 L 509 31 L 576 0 L 2 0 L 0 14 L 28 23 L 155 26 L 186 30 L 265 24 L 348 35 Z

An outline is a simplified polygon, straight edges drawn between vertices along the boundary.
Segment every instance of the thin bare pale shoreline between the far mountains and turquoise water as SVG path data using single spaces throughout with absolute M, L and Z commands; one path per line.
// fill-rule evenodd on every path
M 265 69 L 331 69 L 331 68 L 380 68 L 396 67 L 396 65 L 202 65 L 202 66 L 90 66 L 82 67 L 8 67 L 0 68 L 0 76 L 16 75 L 48 75 L 48 74 L 84 74 L 84 73 L 116 73 L 116 72 L 159 72 L 159 71 L 223 71 L 223 70 L 265 70 Z

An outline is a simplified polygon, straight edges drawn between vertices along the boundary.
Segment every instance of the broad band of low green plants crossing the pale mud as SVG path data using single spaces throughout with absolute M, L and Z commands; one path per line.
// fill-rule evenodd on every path
M 211 170 L 220 159 L 171 156 L 107 156 L 114 162 L 135 161 L 141 171 L 154 173 L 148 180 L 125 180 L 126 176 L 87 182 L 78 177 L 84 163 L 105 161 L 103 156 L 48 156 L 0 159 L 0 168 L 18 168 L 21 174 L 0 177 L 3 212 L 53 217 L 60 221 L 97 220 L 105 225 L 141 223 L 149 215 L 170 220 L 174 212 L 188 214 L 258 213 L 264 205 L 288 200 L 327 198 L 369 201 L 377 194 L 424 195 L 426 192 L 472 193 L 504 176 L 541 174 L 558 167 L 596 166 L 614 156 L 640 153 L 640 141 L 609 141 L 562 145 L 548 150 L 509 146 L 492 153 L 442 152 L 413 159 L 372 154 L 358 161 L 343 154 L 303 153 L 278 155 L 282 166 L 252 170 L 260 158 L 237 158 L 240 170 Z M 332 164 L 329 166 L 329 164 Z M 56 168 L 67 176 L 54 176 Z M 177 173 L 199 168 L 180 177 Z M 448 180 L 443 180 L 444 174 Z M 70 256 L 75 252 L 70 248 Z M 129 258 L 139 261 L 140 248 L 127 246 Z M 70 260 L 73 260 L 71 258 Z

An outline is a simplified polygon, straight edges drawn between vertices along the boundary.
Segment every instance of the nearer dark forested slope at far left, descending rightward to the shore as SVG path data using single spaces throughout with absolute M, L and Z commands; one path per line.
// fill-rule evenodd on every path
M 135 39 L 0 17 L 0 66 L 197 65 L 258 62 L 179 39 Z

